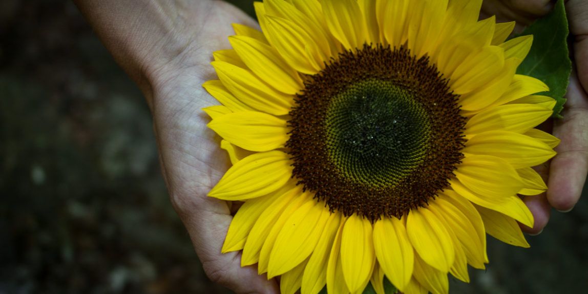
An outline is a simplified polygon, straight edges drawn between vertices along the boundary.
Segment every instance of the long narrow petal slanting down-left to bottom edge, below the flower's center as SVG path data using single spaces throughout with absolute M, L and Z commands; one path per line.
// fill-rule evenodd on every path
M 329 216 L 316 248 L 310 255 L 308 264 L 302 276 L 302 293 L 317 294 L 326 284 L 327 263 L 329 262 L 330 249 L 337 235 L 341 216 L 335 212 Z

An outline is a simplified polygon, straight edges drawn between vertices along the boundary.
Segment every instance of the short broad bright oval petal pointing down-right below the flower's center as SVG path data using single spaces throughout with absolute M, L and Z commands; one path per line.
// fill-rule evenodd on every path
M 420 258 L 442 272 L 449 272 L 455 258 L 453 242 L 437 216 L 426 208 L 410 211 L 406 232 Z

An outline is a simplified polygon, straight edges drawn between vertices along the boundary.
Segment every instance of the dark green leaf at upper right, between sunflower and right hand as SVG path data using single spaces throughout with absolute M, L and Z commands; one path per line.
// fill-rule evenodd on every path
M 568 34 L 563 0 L 558 0 L 549 15 L 537 19 L 521 34 L 533 35 L 533 46 L 517 69 L 517 74 L 533 76 L 549 86 L 549 92 L 541 95 L 556 99 L 557 104 L 553 108 L 553 117 L 556 118 L 562 118 L 559 113 L 566 103 L 564 95 L 572 73 L 572 61 L 567 48 Z

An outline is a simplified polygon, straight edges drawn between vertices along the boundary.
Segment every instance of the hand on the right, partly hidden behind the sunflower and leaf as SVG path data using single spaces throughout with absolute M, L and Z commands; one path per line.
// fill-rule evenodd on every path
M 486 15 L 497 15 L 501 21 L 517 21 L 528 25 L 553 8 L 549 0 L 486 0 Z M 549 189 L 539 196 L 526 196 L 523 201 L 533 213 L 533 228 L 522 225 L 527 233 L 538 234 L 547 225 L 551 208 L 570 211 L 582 194 L 588 172 L 588 2 L 566 1 L 570 34 L 573 36 L 574 71 L 567 89 L 567 103 L 563 119 L 550 119 L 543 130 L 553 133 L 562 142 L 555 149 L 557 155 L 537 171 Z

